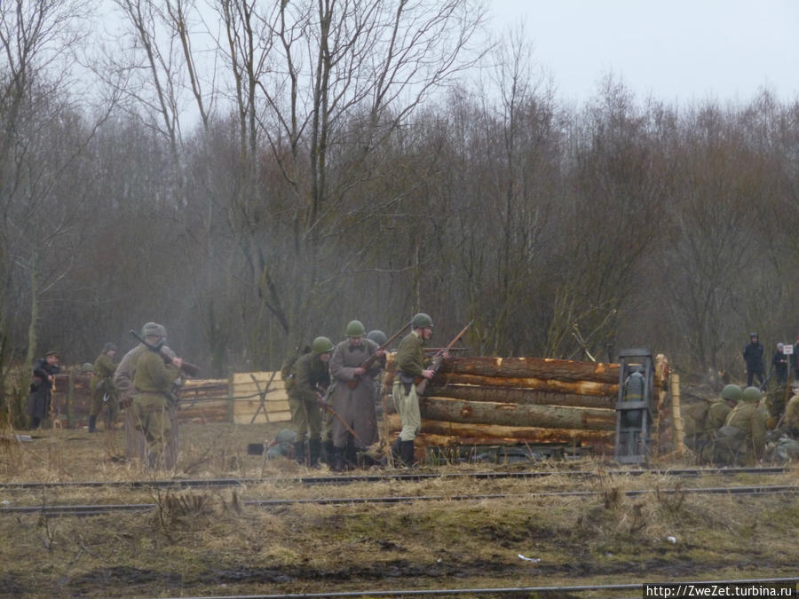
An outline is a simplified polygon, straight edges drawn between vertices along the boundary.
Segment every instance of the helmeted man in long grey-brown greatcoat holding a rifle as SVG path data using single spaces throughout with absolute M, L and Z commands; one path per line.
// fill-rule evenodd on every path
M 336 345 L 330 358 L 330 376 L 335 381 L 330 400 L 338 414 L 333 419 L 332 438 L 336 472 L 344 469 L 345 458 L 350 466 L 354 465 L 355 451 L 365 450 L 377 440 L 375 376 L 381 366 L 376 361 L 369 368 L 361 365 L 372 356 L 376 359 L 385 356 L 384 351 L 378 351 L 377 343 L 366 338 L 360 320 L 350 321 L 345 335 L 347 338 Z M 354 430 L 354 435 L 344 422 Z

